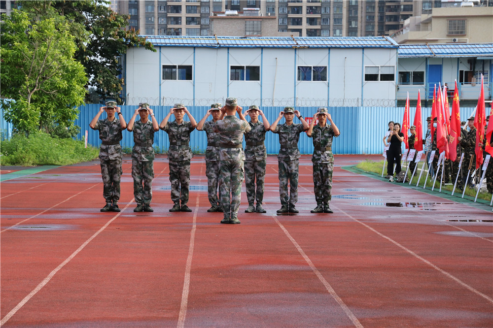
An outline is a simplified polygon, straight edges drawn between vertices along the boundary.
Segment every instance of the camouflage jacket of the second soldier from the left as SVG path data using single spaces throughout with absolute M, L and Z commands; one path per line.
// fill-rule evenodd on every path
M 154 129 L 152 121 L 147 120 L 142 123 L 141 120 L 136 120 L 132 127 L 134 132 L 134 148 L 132 148 L 132 159 L 141 162 L 149 162 L 154 160 Z

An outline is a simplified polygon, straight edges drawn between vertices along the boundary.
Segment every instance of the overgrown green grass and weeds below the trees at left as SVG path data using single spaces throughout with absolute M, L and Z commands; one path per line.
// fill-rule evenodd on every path
M 71 138 L 56 138 L 37 131 L 28 137 L 15 134 L 10 140 L 1 141 L 1 165 L 70 165 L 94 160 L 99 149 Z

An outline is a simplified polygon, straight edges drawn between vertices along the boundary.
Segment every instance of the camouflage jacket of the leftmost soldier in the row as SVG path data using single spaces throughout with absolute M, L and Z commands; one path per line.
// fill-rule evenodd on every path
M 98 120 L 93 130 L 99 130 L 99 138 L 105 143 L 118 142 L 116 145 L 101 144 L 99 149 L 99 158 L 101 160 L 113 161 L 123 157 L 120 140 L 123 139 L 122 130 L 124 129 L 121 127 L 119 119 L 115 117 L 112 122 L 108 121 L 107 118 L 104 120 Z

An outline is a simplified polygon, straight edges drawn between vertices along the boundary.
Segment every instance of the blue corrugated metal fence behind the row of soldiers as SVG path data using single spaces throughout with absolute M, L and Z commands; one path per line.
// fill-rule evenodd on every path
M 99 139 L 98 131 L 94 131 L 89 128 L 89 123 L 96 115 L 100 105 L 87 104 L 79 108 L 79 118 L 75 121 L 75 124 L 81 127 L 81 133 L 77 138 L 82 139 L 85 130 L 88 130 L 88 143 L 99 147 L 101 140 Z M 161 123 L 163 118 L 169 112 L 171 106 L 154 106 L 153 110 L 156 114 L 158 123 Z M 130 121 L 136 107 L 135 106 L 122 106 L 122 113 L 125 120 Z M 194 115 L 197 123 L 204 117 L 209 106 L 190 106 L 188 110 Z M 317 107 L 297 107 L 300 113 L 304 117 L 313 117 L 313 114 L 317 111 Z M 283 107 L 262 107 L 269 123 L 273 123 L 278 117 L 279 113 L 283 110 Z M 414 121 L 414 112 L 416 108 L 411 108 L 411 124 Z M 461 108 L 460 117 L 464 121 L 466 120 L 474 108 Z M 404 108 L 391 108 L 391 107 L 331 107 L 329 113 L 332 115 L 334 123 L 341 131 L 341 135 L 333 141 L 334 154 L 379 154 L 383 152 L 383 142 L 385 132 L 387 131 L 388 121 L 402 122 L 404 116 Z M 431 108 L 423 108 L 423 135 L 426 131 L 426 117 L 431 115 Z M 103 113 L 101 118 L 105 118 L 106 114 Z M 248 119 L 248 118 L 247 118 Z M 173 120 L 173 117 L 170 118 Z M 185 117 L 188 121 L 188 118 Z M 208 118 L 211 120 L 211 117 Z M 281 119 L 281 124 L 284 119 Z M 295 118 L 295 123 L 299 123 L 299 120 Z M 123 132 L 123 147 L 132 147 L 134 145 L 133 135 L 131 132 Z M 312 140 L 302 133 L 300 141 L 298 143 L 300 152 L 302 154 L 313 153 Z M 159 147 L 160 150 L 166 150 L 169 147 L 168 135 L 164 131 L 156 132 L 154 136 L 154 146 Z M 279 152 L 279 136 L 277 134 L 267 132 L 265 146 L 267 153 L 277 154 Z M 207 147 L 207 137 L 204 131 L 193 131 L 190 136 L 190 147 L 194 151 L 204 152 Z

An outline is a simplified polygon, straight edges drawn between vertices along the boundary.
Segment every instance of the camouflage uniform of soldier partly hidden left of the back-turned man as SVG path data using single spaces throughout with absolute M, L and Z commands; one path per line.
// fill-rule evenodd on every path
M 214 121 L 207 121 L 202 128 L 207 133 L 207 149 L 206 149 L 206 176 L 207 176 L 207 194 L 209 202 L 212 206 L 217 206 L 219 198 L 217 197 L 217 189 L 219 182 L 220 164 L 219 152 L 219 134 L 213 131 Z

